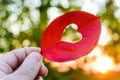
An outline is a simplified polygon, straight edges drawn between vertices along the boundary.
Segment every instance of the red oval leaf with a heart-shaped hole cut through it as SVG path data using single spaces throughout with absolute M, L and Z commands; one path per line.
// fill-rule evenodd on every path
M 76 24 L 82 40 L 76 43 L 61 41 L 69 24 Z M 83 11 L 68 12 L 51 22 L 41 39 L 42 55 L 51 61 L 65 62 L 87 55 L 96 45 L 101 32 L 99 17 Z

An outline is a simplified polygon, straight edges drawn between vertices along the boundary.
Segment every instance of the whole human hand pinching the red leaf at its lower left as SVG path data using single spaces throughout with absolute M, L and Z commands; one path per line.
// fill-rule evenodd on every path
M 0 56 L 0 80 L 42 80 L 48 70 L 39 52 L 40 48 L 27 47 Z

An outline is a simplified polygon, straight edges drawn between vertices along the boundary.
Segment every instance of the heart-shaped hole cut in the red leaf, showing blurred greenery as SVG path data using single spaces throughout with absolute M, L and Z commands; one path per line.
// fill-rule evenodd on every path
M 82 39 L 82 34 L 77 32 L 76 24 L 69 24 L 63 31 L 61 41 L 76 43 Z

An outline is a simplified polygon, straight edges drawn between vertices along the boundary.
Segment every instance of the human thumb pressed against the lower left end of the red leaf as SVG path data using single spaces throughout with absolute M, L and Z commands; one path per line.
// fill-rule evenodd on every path
M 12 74 L 17 80 L 34 80 L 42 66 L 42 56 L 38 52 L 32 52 L 22 65 Z

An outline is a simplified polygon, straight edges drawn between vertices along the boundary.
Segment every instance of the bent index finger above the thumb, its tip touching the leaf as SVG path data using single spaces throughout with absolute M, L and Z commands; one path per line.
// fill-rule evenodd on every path
M 20 65 L 24 59 L 32 52 L 40 52 L 38 47 L 26 47 L 8 52 L 0 58 L 0 71 L 4 73 L 12 73 L 13 70 Z

